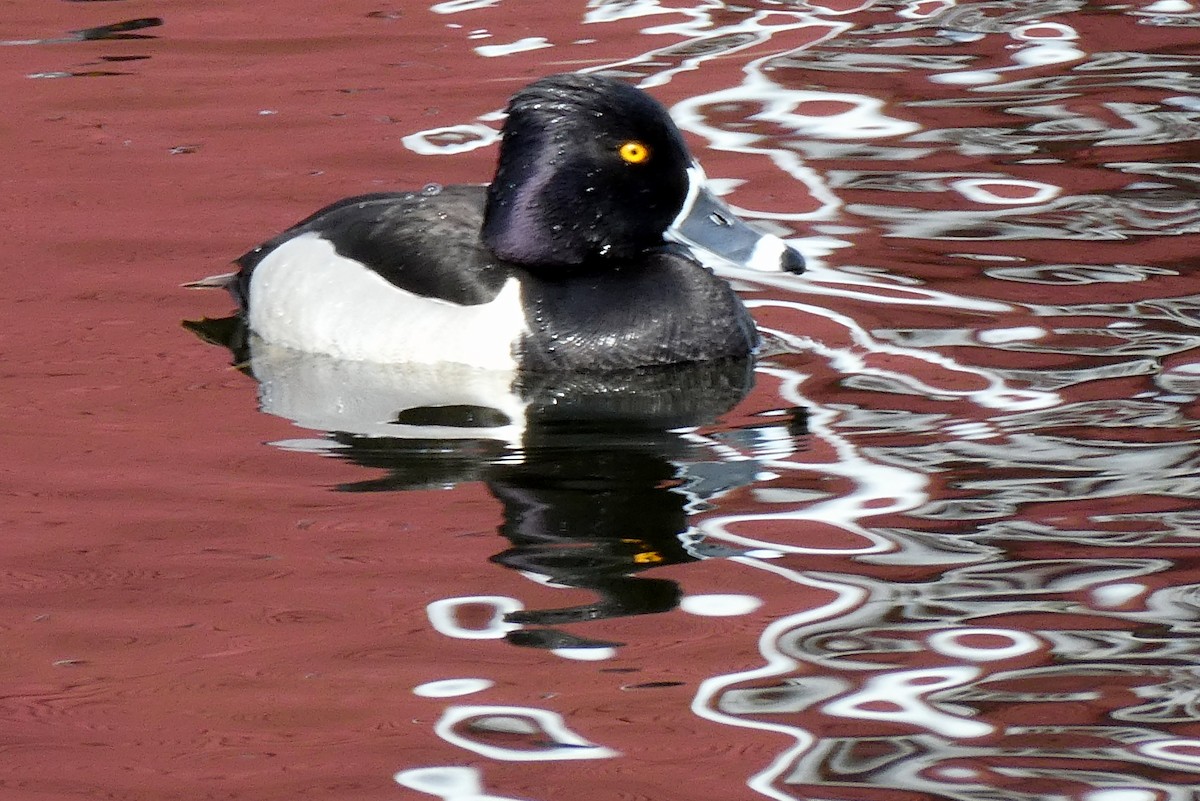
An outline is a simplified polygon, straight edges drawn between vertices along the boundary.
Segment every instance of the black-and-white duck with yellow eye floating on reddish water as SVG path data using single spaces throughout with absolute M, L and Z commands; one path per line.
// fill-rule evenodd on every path
M 491 183 L 338 200 L 190 285 L 228 289 L 253 336 L 301 353 L 589 372 L 751 355 L 714 260 L 804 270 L 706 186 L 658 101 L 565 73 L 512 95 Z

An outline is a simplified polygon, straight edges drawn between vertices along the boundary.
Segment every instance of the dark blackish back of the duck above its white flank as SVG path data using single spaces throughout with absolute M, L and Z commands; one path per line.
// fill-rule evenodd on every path
M 427 187 L 338 200 L 246 253 L 238 264 L 242 297 L 256 265 L 304 234 L 326 240 L 388 283 L 421 297 L 474 306 L 492 301 L 512 275 L 480 239 L 486 186 Z

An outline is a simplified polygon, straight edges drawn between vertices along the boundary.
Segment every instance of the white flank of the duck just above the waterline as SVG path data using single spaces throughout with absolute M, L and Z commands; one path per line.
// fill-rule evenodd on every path
M 254 266 L 248 323 L 266 342 L 307 353 L 491 369 L 516 368 L 528 330 L 516 278 L 487 303 L 458 306 L 389 283 L 318 234 L 288 240 Z

